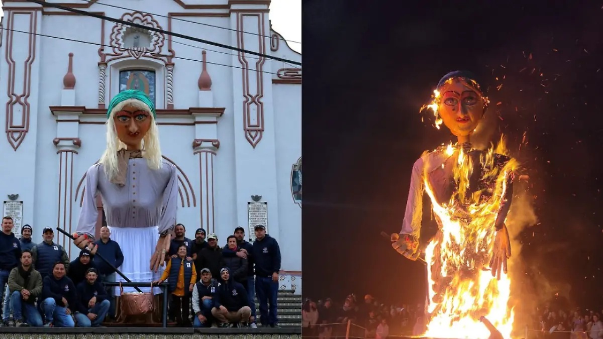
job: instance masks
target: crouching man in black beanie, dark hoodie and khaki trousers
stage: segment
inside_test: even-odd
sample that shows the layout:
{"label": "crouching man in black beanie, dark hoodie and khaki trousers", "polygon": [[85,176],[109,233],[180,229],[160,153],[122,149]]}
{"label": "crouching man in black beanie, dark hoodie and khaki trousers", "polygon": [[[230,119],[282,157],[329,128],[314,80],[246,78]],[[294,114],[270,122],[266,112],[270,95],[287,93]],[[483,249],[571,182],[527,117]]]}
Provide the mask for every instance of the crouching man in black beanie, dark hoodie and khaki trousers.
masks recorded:
{"label": "crouching man in black beanie, dark hoodie and khaki trousers", "polygon": [[243,285],[233,280],[228,267],[220,270],[220,285],[213,299],[212,315],[218,321],[218,327],[248,326],[251,308],[248,305],[247,291]]}

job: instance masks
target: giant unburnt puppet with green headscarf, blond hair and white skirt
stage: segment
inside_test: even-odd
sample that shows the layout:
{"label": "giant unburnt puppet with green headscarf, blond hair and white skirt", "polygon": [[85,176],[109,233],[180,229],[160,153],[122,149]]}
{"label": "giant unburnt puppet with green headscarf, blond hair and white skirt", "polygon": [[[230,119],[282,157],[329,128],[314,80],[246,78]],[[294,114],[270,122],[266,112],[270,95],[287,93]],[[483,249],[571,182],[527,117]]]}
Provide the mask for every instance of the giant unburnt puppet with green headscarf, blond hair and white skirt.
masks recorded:
{"label": "giant unburnt puppet with green headscarf, blond hair and white skirt", "polygon": [[[74,244],[92,247],[96,218],[96,194],[103,209],[111,239],[124,254],[119,270],[140,287],[151,291],[159,280],[176,220],[178,181],[176,168],[162,159],[159,129],[153,101],[139,90],[115,95],[107,108],[107,150],[86,174],[85,193]],[[117,277],[117,281],[124,281]],[[116,296],[120,290],[116,288]],[[134,288],[124,287],[124,293]],[[160,289],[153,288],[154,294]]]}

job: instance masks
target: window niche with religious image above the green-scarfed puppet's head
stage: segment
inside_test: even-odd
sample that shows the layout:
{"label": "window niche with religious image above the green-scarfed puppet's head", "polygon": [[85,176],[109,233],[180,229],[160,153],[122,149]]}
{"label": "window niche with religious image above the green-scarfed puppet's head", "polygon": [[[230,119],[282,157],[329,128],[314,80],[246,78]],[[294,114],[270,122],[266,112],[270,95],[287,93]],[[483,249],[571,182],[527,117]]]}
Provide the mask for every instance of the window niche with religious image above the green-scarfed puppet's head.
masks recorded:
{"label": "window niche with religious image above the green-scarfed puppet's head", "polygon": [[159,60],[128,59],[108,65],[111,84],[109,102],[114,95],[126,89],[146,92],[156,109],[165,109],[165,66]]}

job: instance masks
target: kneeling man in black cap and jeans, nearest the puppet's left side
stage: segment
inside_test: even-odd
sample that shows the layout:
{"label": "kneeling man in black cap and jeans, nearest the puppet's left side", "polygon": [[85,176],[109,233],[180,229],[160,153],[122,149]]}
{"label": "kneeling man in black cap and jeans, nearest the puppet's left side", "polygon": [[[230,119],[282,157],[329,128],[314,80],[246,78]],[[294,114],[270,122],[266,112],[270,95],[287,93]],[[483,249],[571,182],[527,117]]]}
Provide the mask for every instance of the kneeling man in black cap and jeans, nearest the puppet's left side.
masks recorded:
{"label": "kneeling man in black cap and jeans, nearest the puppet's left side", "polygon": [[105,320],[111,303],[109,294],[98,281],[98,270],[86,271],[86,280],[77,285],[75,320],[78,327],[99,327]]}

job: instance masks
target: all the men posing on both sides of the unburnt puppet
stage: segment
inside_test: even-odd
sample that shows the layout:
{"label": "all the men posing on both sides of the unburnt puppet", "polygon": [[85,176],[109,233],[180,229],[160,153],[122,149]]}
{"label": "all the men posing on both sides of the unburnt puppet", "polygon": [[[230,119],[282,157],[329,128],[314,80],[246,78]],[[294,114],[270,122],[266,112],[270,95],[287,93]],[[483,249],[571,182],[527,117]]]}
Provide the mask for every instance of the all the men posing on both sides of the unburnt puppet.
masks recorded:
{"label": "all the men posing on both sides of the unburnt puppet", "polygon": [[[106,317],[115,317],[113,289],[103,287],[102,282],[115,282],[115,267],[121,266],[124,256],[119,244],[110,239],[107,227],[101,229],[95,242],[96,253],[113,265],[91,256],[87,250],[69,262],[65,249],[53,241],[50,227],[43,229],[43,241],[35,245],[31,242],[31,226],[22,227],[21,239],[12,230],[12,218],[4,217],[0,232],[0,288],[5,284],[7,288],[0,326],[89,327],[101,326]],[[276,239],[266,233],[265,226],[254,227],[253,243],[245,241],[242,227],[236,227],[224,248],[218,246],[215,234],[206,240],[202,228],[195,231],[194,240],[186,238],[185,232],[184,225],[175,227],[166,256],[166,261],[177,258],[178,249],[184,245],[183,262],[194,262],[189,266],[195,267],[196,282],[192,280],[190,287],[183,289],[186,302],[180,302],[186,305],[181,306],[185,309],[184,318],[188,320],[190,300],[194,327],[257,328],[257,294],[261,324],[277,327],[280,248]],[[179,271],[166,272],[167,279],[186,276],[186,267],[180,265]],[[173,303],[169,311],[173,318]]]}

